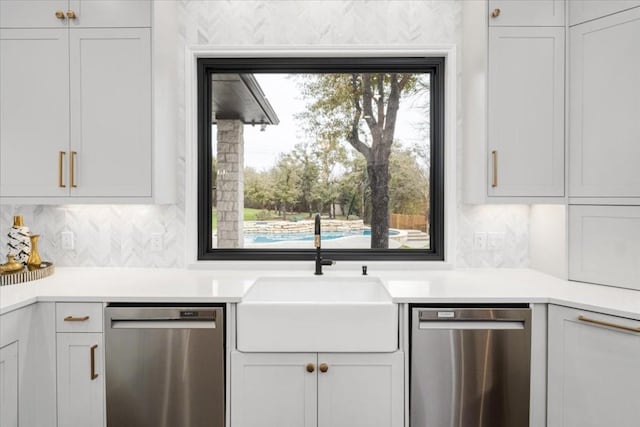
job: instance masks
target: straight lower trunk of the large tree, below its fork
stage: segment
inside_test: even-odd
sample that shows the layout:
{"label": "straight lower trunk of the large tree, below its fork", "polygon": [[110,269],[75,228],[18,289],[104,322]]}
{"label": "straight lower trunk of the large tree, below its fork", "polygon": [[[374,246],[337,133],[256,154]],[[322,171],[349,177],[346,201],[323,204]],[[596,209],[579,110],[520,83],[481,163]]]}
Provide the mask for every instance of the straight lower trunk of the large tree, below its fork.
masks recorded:
{"label": "straight lower trunk of the large tree, below its fork", "polygon": [[368,164],[371,188],[371,249],[389,248],[389,164]]}

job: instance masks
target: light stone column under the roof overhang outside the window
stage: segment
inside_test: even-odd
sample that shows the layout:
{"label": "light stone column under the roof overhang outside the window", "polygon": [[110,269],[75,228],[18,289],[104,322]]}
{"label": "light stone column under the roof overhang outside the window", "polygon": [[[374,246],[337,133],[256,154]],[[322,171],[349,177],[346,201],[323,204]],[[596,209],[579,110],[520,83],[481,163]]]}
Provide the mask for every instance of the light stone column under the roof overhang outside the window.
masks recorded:
{"label": "light stone column under the roof overhang outside the window", "polygon": [[240,120],[218,120],[218,248],[244,244],[244,138]]}

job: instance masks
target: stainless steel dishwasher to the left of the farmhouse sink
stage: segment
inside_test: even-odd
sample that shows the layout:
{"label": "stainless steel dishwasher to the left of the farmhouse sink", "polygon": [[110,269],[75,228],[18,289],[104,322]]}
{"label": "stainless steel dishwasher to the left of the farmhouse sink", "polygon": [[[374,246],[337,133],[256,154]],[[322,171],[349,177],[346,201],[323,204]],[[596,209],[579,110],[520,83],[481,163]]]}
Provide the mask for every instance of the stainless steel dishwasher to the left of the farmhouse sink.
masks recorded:
{"label": "stainless steel dishwasher to the left of the farmhouse sink", "polygon": [[109,427],[223,427],[222,307],[105,309]]}

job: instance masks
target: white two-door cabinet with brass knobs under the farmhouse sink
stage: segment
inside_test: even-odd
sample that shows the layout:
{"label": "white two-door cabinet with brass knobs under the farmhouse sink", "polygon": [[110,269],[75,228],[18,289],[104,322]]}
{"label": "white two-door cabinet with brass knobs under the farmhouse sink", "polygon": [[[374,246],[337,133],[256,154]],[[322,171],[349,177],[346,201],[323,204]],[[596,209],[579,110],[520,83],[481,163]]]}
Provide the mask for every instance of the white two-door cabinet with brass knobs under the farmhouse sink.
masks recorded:
{"label": "white two-door cabinet with brass knobs under the farmhouse sink", "polygon": [[232,427],[401,427],[403,355],[231,354]]}

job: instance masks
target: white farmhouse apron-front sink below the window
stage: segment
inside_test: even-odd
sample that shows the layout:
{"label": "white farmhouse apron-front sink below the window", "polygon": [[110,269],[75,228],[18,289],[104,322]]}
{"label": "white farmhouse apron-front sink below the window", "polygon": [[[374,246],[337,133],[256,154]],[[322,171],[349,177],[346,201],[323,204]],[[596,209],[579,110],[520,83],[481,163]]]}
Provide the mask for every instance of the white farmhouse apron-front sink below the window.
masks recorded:
{"label": "white farmhouse apron-front sink below the window", "polygon": [[390,352],[398,306],[374,277],[265,277],[237,307],[240,351]]}

